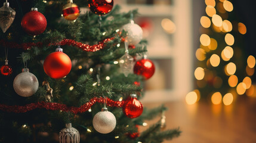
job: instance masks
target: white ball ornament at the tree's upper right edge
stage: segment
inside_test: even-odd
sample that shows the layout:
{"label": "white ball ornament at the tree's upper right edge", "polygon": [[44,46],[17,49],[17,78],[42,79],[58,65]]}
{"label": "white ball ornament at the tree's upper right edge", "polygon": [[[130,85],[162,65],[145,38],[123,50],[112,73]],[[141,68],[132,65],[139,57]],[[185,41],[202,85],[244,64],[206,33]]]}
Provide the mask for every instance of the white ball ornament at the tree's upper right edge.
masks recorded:
{"label": "white ball ornament at the tree's upper right edge", "polygon": [[129,45],[136,45],[143,38],[143,31],[138,24],[128,23],[122,27],[127,32],[127,41]]}

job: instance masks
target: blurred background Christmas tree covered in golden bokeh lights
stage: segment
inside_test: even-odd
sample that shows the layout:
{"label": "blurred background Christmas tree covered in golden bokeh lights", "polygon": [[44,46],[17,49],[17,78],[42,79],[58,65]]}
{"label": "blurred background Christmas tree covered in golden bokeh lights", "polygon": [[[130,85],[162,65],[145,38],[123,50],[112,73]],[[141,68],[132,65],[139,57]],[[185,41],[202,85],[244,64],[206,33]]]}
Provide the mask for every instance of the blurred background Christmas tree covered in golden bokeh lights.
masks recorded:
{"label": "blurred background Christmas tree covered in golden bokeh lights", "polygon": [[[255,58],[244,51],[245,24],[233,13],[227,0],[205,0],[201,17],[200,48],[196,49],[195,91],[187,94],[188,104],[200,98],[212,104],[230,105],[239,96],[254,93],[251,77]],[[249,55],[249,56],[248,56]]]}

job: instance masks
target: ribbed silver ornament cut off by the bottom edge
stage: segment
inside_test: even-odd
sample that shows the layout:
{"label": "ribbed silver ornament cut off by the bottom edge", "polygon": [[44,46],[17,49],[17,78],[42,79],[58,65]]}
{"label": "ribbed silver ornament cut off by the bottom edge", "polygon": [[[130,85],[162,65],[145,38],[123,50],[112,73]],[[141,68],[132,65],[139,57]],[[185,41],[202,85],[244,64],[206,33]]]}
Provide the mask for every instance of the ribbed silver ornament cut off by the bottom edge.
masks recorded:
{"label": "ribbed silver ornament cut off by the bottom edge", "polygon": [[60,130],[58,139],[60,143],[79,143],[80,134],[77,129],[72,127],[71,123],[67,123],[66,128]]}

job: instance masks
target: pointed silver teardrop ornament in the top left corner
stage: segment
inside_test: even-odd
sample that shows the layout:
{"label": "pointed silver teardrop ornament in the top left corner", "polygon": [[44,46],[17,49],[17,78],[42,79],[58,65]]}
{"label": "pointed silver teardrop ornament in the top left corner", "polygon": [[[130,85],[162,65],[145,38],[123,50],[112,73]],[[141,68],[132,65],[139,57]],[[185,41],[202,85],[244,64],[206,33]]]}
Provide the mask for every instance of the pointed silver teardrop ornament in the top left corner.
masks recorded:
{"label": "pointed silver teardrop ornament in the top left corner", "polygon": [[13,8],[9,7],[9,2],[4,2],[4,6],[0,8],[0,27],[2,32],[5,33],[11,26],[15,18],[15,14],[16,12],[13,10]]}

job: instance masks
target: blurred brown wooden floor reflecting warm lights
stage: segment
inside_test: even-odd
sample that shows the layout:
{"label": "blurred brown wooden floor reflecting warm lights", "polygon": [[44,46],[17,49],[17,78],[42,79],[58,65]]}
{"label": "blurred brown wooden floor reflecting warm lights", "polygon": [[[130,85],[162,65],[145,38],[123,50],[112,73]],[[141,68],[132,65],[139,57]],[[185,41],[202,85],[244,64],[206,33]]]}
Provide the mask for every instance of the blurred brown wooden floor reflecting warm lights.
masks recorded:
{"label": "blurred brown wooden floor reflecting warm lights", "polygon": [[[162,103],[143,103],[153,108]],[[232,105],[184,101],[164,103],[166,129],[180,127],[181,136],[164,143],[250,143],[256,142],[256,98],[237,99]],[[156,122],[158,119],[147,123]],[[141,130],[145,128],[142,127]]]}

